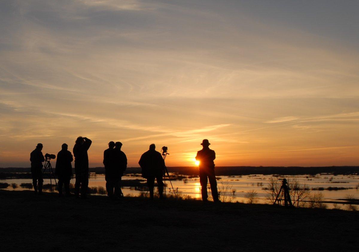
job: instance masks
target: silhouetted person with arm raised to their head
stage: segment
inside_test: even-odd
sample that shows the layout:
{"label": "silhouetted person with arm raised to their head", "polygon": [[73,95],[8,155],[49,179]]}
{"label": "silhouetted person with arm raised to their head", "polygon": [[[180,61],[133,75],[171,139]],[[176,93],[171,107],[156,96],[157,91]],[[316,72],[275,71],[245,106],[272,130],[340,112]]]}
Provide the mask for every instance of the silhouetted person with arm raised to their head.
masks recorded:
{"label": "silhouetted person with arm raised to their head", "polygon": [[81,186],[81,198],[86,198],[89,184],[89,157],[87,154],[92,141],[87,137],[78,137],[75,142],[73,153],[75,156],[75,196],[79,197]]}

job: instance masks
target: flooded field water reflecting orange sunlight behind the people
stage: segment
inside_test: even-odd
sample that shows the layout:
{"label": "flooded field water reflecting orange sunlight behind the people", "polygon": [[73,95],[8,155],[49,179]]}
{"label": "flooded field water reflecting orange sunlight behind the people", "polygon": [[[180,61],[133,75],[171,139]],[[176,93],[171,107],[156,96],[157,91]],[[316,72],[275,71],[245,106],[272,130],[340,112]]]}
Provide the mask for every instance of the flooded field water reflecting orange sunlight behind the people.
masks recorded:
{"label": "flooded field water reflecting orange sunlight behind the people", "polygon": [[[178,174],[171,174],[176,177]],[[286,178],[289,181],[297,179],[301,185],[306,185],[311,194],[322,193],[324,201],[338,201],[348,197],[359,198],[359,176],[358,175],[332,175],[332,174],[317,174],[317,175],[295,175],[295,176],[274,176],[274,175],[243,175],[243,176],[219,176],[217,179],[218,190],[228,197],[233,202],[247,202],[248,192],[255,192],[255,200],[257,203],[269,203],[266,199],[267,193],[265,188],[269,187],[270,179]],[[143,179],[140,174],[131,174],[124,176],[123,180]],[[278,180],[281,183],[280,180]],[[18,187],[13,188],[11,185],[6,190],[24,190],[28,188],[20,187],[22,183],[32,183],[31,179],[4,179],[0,183],[15,183]],[[44,184],[50,183],[50,179],[44,179]],[[53,183],[53,181],[52,181]],[[75,179],[71,179],[70,183],[75,183]],[[105,188],[105,178],[102,174],[92,174],[89,179],[89,187],[103,187]],[[171,184],[166,180],[166,193],[173,193]],[[181,180],[172,180],[174,190],[182,195],[188,195],[192,198],[201,198],[201,185],[199,177],[183,176]],[[137,188],[138,189],[138,188]],[[133,196],[139,195],[144,191],[136,190],[132,187],[123,187],[125,195],[131,194]],[[328,204],[332,208],[332,204]]]}

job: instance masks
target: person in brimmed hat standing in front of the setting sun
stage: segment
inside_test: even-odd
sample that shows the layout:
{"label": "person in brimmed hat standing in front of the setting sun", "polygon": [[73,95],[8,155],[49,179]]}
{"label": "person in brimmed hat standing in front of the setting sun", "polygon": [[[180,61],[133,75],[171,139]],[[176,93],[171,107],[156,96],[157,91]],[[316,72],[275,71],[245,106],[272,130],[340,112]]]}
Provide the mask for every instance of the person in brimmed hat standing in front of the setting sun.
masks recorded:
{"label": "person in brimmed hat standing in front of the setting sun", "polygon": [[214,174],[214,160],[216,159],[216,154],[214,150],[211,150],[209,148],[210,143],[207,139],[204,139],[201,145],[203,146],[203,148],[202,150],[197,152],[196,160],[200,161],[199,170],[200,183],[202,187],[202,200],[208,201],[207,183],[209,180],[213,201],[220,202],[218,199],[217,180]]}

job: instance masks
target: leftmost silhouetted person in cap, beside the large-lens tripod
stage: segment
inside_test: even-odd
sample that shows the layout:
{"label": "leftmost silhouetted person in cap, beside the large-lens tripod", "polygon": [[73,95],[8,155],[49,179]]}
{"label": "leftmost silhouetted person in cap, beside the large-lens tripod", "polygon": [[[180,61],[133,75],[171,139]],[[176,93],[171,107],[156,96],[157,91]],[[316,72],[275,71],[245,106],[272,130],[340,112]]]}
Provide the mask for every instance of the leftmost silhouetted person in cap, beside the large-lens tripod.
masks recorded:
{"label": "leftmost silhouetted person in cap, beside the large-lens tripod", "polygon": [[42,184],[44,182],[42,179],[42,162],[45,162],[45,157],[41,152],[42,147],[42,143],[38,143],[35,150],[30,153],[31,176],[35,194],[37,194],[37,189],[39,189],[39,194],[42,194]]}

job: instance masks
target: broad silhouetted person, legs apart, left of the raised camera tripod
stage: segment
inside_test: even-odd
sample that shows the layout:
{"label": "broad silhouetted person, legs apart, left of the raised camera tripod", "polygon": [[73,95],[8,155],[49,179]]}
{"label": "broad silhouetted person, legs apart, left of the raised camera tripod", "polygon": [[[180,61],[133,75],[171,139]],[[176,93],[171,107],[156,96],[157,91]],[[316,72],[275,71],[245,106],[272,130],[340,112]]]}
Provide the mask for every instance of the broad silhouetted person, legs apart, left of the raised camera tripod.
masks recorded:
{"label": "broad silhouetted person, legs apart, left of the raised camera tripod", "polygon": [[164,171],[164,161],[162,155],[155,151],[156,146],[150,145],[150,149],[142,154],[140,161],[138,162],[142,168],[142,177],[147,179],[148,189],[150,191],[150,198],[153,200],[153,188],[155,178],[158,184],[159,198],[163,198],[163,182],[162,176]]}

